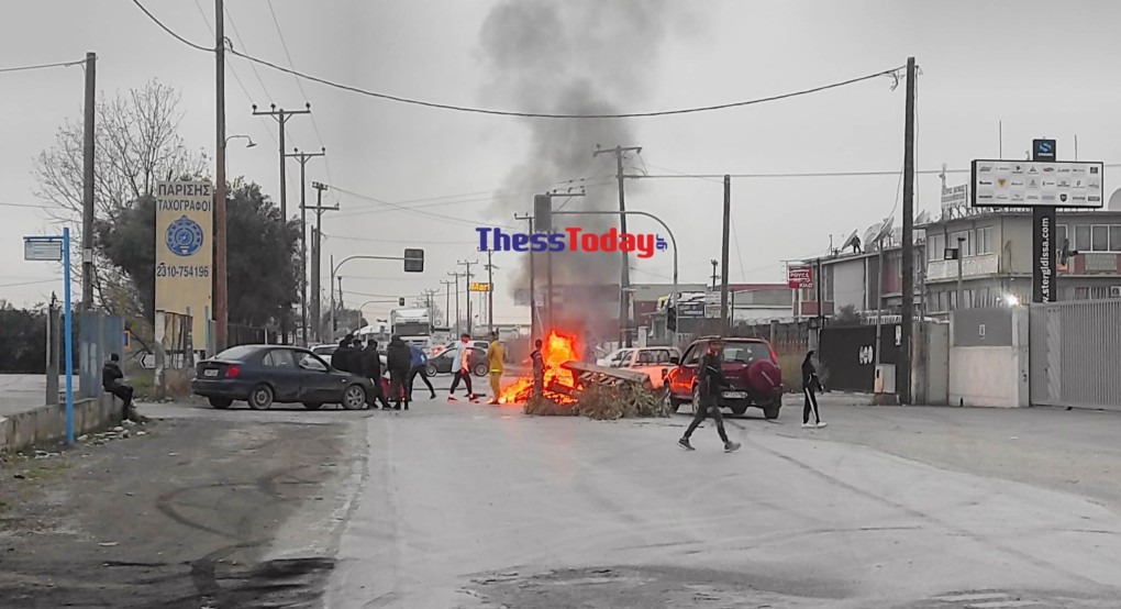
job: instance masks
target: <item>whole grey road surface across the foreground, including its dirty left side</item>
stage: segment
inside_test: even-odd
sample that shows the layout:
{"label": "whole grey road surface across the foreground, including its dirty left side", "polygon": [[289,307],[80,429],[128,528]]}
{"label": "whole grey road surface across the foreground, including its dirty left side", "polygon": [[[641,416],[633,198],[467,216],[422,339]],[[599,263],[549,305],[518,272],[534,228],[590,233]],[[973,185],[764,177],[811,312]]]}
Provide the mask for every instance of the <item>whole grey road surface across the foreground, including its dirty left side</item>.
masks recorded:
{"label": "whole grey road surface across the foreground, including its dirty left side", "polygon": [[[447,386],[437,378],[437,388]],[[427,391],[418,393],[418,397]],[[0,469],[0,606],[1115,608],[1114,413],[142,405]],[[19,478],[16,478],[19,474]],[[6,605],[7,603],[7,605]]]}

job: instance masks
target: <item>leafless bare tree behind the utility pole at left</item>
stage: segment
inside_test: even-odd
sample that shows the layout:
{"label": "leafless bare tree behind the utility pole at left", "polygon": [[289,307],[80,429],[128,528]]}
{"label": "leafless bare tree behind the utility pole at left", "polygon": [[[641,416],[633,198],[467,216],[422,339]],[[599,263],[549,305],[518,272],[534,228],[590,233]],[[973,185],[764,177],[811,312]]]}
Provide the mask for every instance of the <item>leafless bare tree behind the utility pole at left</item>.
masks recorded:
{"label": "leafless bare tree behind the utility pole at left", "polygon": [[[179,100],[178,91],[155,79],[111,100],[101,95],[94,114],[95,219],[114,221],[138,199],[151,194],[159,179],[207,174],[206,154],[189,150],[179,136]],[[57,220],[77,227],[83,209],[83,140],[82,121],[67,119],[55,133],[55,145],[39,153],[33,172],[39,183],[36,195],[58,206]],[[80,249],[75,256],[81,264]],[[111,313],[131,313],[138,302],[135,286],[96,242],[94,257],[96,301]]]}

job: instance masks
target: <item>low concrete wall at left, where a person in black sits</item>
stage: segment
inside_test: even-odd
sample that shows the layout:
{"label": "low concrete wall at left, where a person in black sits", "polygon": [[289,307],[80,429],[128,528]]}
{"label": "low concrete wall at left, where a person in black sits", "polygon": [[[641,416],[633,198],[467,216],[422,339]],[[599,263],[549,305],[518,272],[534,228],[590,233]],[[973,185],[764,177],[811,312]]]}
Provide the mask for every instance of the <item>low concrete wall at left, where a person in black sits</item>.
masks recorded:
{"label": "low concrete wall at left, where a person in black sits", "polygon": [[[121,421],[123,408],[111,395],[74,400],[74,436],[108,427]],[[12,453],[44,442],[66,439],[66,405],[40,406],[24,413],[0,416],[0,454]]]}

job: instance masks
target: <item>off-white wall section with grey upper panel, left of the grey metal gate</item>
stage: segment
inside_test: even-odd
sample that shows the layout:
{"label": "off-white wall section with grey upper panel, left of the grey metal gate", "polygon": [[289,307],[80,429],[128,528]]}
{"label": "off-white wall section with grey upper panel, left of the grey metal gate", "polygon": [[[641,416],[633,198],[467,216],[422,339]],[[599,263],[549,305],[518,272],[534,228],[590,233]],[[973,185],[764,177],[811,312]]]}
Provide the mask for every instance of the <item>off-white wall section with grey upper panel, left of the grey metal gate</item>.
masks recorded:
{"label": "off-white wall section with grey upper panel, left of the grey metal gate", "polygon": [[1004,311],[1010,344],[976,344],[981,339],[975,331],[979,320],[985,314],[997,317],[1000,310],[966,310],[951,316],[952,406],[1028,406],[1028,312],[1025,308]]}

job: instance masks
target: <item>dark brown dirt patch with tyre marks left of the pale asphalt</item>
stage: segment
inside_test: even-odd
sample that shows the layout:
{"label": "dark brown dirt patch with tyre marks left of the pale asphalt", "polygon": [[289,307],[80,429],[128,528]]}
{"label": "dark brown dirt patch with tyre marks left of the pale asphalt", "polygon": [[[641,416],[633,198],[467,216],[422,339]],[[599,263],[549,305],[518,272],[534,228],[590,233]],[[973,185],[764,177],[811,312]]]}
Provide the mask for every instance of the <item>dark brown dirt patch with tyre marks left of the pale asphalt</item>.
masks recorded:
{"label": "dark brown dirt patch with tyre marks left of the pale asphalt", "polygon": [[351,427],[147,427],[0,468],[3,606],[317,607],[326,553],[263,557],[290,520],[331,517]]}

